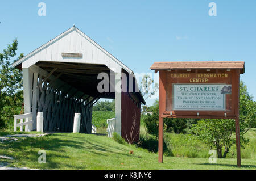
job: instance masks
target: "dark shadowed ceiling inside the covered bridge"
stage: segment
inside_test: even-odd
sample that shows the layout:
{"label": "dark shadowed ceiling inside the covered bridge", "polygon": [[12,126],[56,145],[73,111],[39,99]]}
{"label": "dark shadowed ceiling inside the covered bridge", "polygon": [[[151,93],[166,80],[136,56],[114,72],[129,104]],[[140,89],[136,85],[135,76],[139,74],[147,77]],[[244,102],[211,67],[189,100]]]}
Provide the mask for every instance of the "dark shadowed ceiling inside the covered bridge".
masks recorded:
{"label": "dark shadowed ceiling inside the covered bridge", "polygon": [[[115,85],[110,84],[109,92],[98,92],[97,86],[102,79],[97,79],[99,73],[107,73],[110,79],[110,69],[102,64],[79,64],[64,62],[39,61],[37,66],[46,70],[50,75],[68,83],[71,87],[76,88],[84,94],[97,98],[115,98],[115,92],[110,92],[110,86],[114,90]],[[115,73],[112,71],[113,75]],[[73,94],[76,94],[73,93]],[[72,95],[71,95],[72,96]]]}

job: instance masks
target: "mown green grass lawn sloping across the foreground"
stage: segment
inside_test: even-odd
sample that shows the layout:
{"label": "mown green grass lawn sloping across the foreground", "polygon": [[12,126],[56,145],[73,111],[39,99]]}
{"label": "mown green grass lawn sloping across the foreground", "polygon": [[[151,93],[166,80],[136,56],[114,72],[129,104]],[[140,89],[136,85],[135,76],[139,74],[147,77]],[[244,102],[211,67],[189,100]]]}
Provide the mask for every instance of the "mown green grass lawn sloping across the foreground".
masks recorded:
{"label": "mown green grass lawn sloping across the foreground", "polygon": [[[210,164],[207,158],[164,157],[164,163],[158,163],[158,154],[93,134],[56,133],[19,141],[0,142],[0,155],[14,158],[0,158],[0,162],[31,169],[238,169],[234,158]],[[46,150],[46,164],[38,163],[38,151],[42,149]],[[242,159],[241,169],[256,169],[256,160]]]}

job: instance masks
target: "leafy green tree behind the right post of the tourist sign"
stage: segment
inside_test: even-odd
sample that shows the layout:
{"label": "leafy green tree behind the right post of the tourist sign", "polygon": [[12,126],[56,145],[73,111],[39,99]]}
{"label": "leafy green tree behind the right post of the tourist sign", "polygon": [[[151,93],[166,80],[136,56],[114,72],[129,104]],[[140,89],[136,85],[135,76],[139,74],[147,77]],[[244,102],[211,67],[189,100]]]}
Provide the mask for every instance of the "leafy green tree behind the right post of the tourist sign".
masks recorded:
{"label": "leafy green tree behind the right post of the tourist sign", "polygon": [[[244,82],[240,81],[240,141],[241,147],[249,140],[244,134],[252,127],[255,127],[256,104],[253,96],[250,96]],[[201,119],[197,124],[192,125],[192,133],[200,140],[203,140],[211,149],[216,149],[218,158],[226,158],[230,147],[236,143],[233,135],[236,132],[234,120],[224,119]],[[224,154],[222,155],[222,148]]]}

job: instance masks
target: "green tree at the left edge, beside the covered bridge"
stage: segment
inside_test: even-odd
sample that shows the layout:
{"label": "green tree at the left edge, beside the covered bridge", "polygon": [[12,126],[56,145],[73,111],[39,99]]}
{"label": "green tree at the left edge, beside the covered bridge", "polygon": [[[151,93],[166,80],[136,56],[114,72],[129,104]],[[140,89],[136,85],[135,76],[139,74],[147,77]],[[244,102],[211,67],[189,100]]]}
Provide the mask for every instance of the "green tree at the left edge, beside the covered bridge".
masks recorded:
{"label": "green tree at the left edge, beside the covered bridge", "polygon": [[23,57],[23,54],[20,54],[18,59],[13,60],[17,50],[18,41],[15,39],[11,45],[7,45],[7,49],[4,49],[3,53],[0,53],[0,128],[6,124],[4,120],[9,108],[5,106],[14,103],[17,98],[15,94],[22,87],[22,72],[11,66],[14,61]]}

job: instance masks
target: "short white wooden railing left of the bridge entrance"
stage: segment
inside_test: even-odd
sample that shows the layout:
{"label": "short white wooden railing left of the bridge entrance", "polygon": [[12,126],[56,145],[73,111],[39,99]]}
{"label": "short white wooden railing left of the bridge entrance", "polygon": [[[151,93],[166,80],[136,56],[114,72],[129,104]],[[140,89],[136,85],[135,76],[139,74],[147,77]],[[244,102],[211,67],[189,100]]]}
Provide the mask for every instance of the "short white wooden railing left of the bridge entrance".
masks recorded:
{"label": "short white wooden railing left of the bridge entrance", "polygon": [[[23,122],[23,119],[25,122]],[[17,120],[20,123],[17,124]],[[17,131],[17,127],[20,127],[20,131],[23,131],[23,126],[25,126],[25,131],[31,131],[32,129],[32,113],[25,113],[24,115],[14,115],[14,131]]]}

